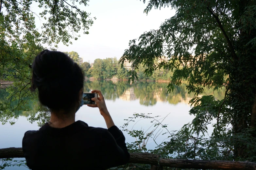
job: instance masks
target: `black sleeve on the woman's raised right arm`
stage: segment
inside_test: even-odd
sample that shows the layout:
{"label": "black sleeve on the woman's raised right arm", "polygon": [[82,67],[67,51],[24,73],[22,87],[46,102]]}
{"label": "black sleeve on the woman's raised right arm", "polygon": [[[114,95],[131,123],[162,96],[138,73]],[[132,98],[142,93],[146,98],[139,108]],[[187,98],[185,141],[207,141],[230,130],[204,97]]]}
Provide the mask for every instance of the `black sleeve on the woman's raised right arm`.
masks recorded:
{"label": "black sleeve on the woman's raised right arm", "polygon": [[128,163],[130,154],[123,133],[116,126],[112,126],[102,134],[102,137],[103,168],[107,169]]}

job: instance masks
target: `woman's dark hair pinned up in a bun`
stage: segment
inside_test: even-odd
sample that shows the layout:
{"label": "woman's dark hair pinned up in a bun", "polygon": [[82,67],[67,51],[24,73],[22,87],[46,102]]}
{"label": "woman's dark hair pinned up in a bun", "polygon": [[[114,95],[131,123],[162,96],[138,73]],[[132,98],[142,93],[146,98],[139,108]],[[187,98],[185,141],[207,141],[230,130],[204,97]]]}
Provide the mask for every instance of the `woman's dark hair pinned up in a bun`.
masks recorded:
{"label": "woman's dark hair pinned up in a bun", "polygon": [[34,59],[32,69],[31,90],[38,88],[42,105],[54,111],[75,106],[84,83],[77,63],[63,52],[43,50]]}

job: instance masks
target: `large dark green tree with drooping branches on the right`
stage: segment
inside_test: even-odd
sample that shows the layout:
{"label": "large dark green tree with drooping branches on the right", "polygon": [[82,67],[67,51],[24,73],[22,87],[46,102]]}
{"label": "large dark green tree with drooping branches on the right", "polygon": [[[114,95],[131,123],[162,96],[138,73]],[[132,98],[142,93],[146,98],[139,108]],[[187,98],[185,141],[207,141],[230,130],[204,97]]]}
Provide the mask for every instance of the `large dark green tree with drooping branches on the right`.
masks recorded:
{"label": "large dark green tree with drooping branches on the right", "polygon": [[[137,78],[136,69],[143,64],[146,75],[160,68],[174,70],[168,92],[183,79],[189,82],[188,92],[196,95],[205,86],[225,88],[221,101],[215,102],[211,96],[191,101],[196,107],[190,111],[196,116],[194,131],[207,130],[207,122],[216,119],[212,139],[249,130],[252,140],[256,134],[256,1],[149,0],[144,12],[161,7],[176,9],[176,14],[159,29],[131,40],[120,60],[122,64],[125,59],[133,61],[130,80]],[[162,56],[168,61],[154,64]],[[214,107],[210,110],[207,105]],[[225,143],[231,148],[229,152],[234,159],[255,161],[256,150],[238,137]]]}

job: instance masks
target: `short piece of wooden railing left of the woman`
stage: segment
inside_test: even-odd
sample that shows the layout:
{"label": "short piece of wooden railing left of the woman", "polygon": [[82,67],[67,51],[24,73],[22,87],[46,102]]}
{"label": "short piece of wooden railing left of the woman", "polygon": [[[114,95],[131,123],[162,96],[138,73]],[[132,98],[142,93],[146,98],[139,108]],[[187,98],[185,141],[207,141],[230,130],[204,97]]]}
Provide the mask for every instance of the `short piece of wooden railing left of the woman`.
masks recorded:
{"label": "short piece of wooden railing left of the woman", "polygon": [[0,149],[0,159],[2,158],[24,158],[22,148]]}

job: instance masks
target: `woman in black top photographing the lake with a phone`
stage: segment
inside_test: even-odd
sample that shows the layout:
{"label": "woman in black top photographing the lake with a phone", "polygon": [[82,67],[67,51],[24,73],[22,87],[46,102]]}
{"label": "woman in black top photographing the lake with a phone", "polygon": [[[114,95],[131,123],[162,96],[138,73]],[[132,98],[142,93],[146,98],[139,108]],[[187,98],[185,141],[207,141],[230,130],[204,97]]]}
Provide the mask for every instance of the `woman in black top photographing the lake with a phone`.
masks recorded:
{"label": "woman in black top photographing the lake with a phone", "polygon": [[[43,50],[34,60],[31,90],[51,111],[50,121],[38,131],[27,131],[22,148],[27,166],[38,169],[107,169],[128,163],[123,133],[114,125],[104,97],[93,98],[107,128],[75,121],[82,100],[84,76],[66,54]],[[89,113],[87,113],[89,114]]]}

